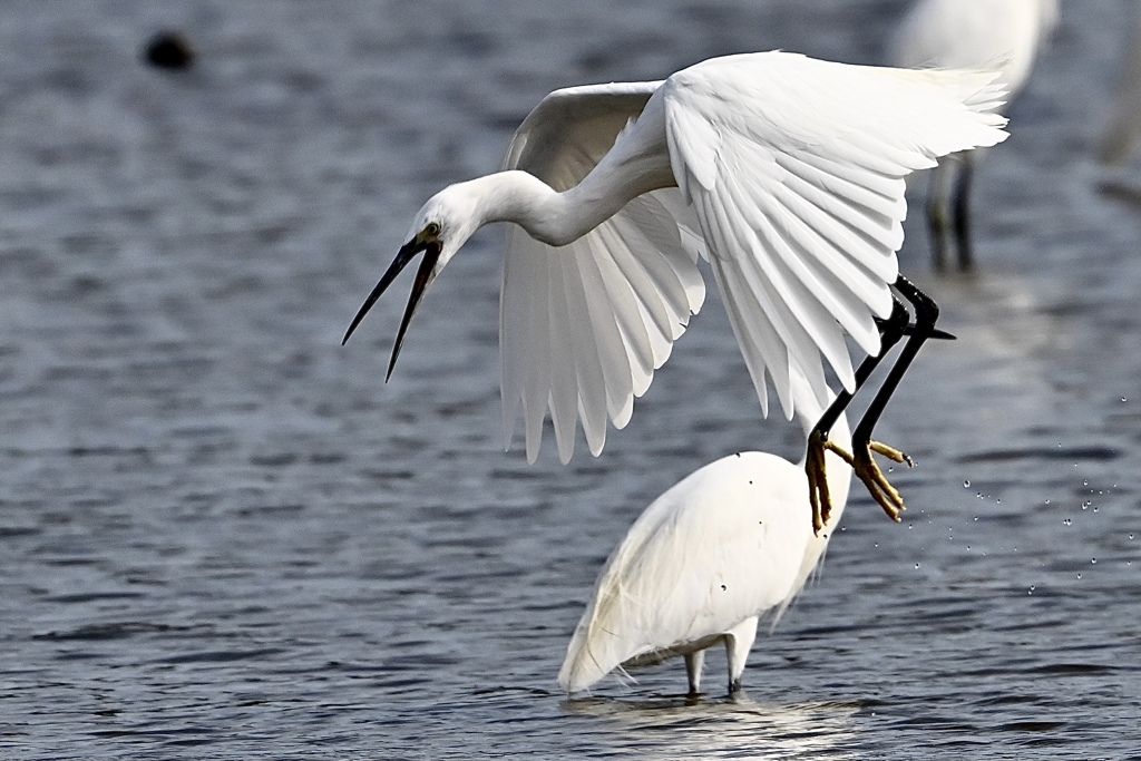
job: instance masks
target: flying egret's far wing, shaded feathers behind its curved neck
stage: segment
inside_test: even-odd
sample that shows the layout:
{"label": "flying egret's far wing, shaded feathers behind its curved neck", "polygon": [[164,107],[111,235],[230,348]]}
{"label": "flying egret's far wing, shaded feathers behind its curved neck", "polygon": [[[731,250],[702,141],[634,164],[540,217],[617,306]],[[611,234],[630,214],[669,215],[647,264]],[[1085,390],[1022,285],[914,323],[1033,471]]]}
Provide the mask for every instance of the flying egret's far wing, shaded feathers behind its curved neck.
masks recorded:
{"label": "flying egret's far wing, shaded feathers behind its curved neck", "polygon": [[[556,191],[574,187],[659,84],[550,94],[519,127],[503,169],[527,171]],[[669,188],[634,199],[565,246],[509,229],[500,300],[507,445],[520,407],[529,461],[539,455],[548,410],[564,462],[580,420],[596,455],[607,420],[626,424],[633,398],[649,387],[705,297],[696,267],[701,241],[675,218],[687,213]]]}

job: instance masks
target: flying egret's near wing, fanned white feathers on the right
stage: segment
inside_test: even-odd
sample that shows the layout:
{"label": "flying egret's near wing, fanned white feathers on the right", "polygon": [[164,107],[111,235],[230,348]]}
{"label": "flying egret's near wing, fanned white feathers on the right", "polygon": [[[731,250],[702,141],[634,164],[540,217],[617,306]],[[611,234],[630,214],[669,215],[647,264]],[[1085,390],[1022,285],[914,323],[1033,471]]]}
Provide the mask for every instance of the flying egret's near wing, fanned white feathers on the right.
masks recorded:
{"label": "flying egret's near wing, fanned white feathers on the right", "polygon": [[904,177],[1005,139],[995,74],[901,71],[785,52],[712,59],[664,87],[666,137],[737,341],[768,414],[800,367],[827,397],[822,356],[855,384],[844,342],[880,350],[907,211]]}

